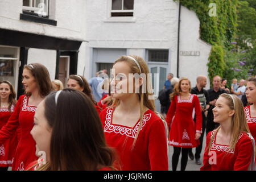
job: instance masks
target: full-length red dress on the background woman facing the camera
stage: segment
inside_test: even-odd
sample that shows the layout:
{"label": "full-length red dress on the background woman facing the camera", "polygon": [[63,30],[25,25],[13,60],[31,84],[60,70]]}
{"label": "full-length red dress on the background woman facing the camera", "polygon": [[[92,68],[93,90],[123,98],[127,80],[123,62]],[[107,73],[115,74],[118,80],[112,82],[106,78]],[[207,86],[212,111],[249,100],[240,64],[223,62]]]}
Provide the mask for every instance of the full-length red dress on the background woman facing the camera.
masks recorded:
{"label": "full-length red dress on the background woman facing the camera", "polygon": [[[195,108],[196,123],[193,121]],[[169,145],[182,148],[193,148],[200,144],[195,140],[196,133],[202,133],[202,114],[199,98],[191,94],[189,100],[175,96],[168,110],[166,121],[170,129]]]}

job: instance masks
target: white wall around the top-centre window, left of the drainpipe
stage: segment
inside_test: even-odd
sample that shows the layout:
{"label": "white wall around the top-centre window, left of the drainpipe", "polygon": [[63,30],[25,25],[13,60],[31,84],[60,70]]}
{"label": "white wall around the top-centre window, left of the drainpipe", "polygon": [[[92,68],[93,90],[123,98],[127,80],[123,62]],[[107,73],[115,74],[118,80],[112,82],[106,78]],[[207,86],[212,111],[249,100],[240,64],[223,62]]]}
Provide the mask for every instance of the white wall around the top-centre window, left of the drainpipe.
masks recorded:
{"label": "white wall around the top-centre window, left of the drainpipe", "polygon": [[[110,0],[87,1],[89,47],[126,48],[128,54],[144,58],[144,49],[171,49],[170,66],[175,66],[178,3],[172,0],[134,1],[134,16],[128,18],[110,18],[110,5]],[[167,72],[176,74],[176,69],[171,67]]]}

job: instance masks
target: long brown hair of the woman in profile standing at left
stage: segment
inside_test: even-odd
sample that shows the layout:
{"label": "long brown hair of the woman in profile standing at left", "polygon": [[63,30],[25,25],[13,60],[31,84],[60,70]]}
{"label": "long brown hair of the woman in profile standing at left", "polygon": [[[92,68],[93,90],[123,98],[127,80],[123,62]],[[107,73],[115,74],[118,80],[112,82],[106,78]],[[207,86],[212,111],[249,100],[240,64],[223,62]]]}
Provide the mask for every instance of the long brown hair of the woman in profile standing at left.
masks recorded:
{"label": "long brown hair of the woman in profile standing at left", "polygon": [[[48,69],[43,64],[28,64],[24,66],[24,69],[28,69],[32,76],[35,77],[40,96],[46,97],[52,90],[54,90]],[[31,93],[26,93],[26,95],[31,96]]]}

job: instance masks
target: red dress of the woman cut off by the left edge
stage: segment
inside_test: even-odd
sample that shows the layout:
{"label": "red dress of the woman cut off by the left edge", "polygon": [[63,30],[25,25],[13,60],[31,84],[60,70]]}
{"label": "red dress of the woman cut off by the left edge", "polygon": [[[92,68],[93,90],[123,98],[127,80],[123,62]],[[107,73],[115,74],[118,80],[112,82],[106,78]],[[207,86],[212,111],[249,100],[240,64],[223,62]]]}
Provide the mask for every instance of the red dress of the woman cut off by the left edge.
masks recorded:
{"label": "red dress of the woman cut off by the left edge", "polygon": [[[0,129],[5,126],[13,111],[14,105],[11,106],[10,110],[8,108],[0,108]],[[0,167],[12,166],[17,144],[17,134],[14,133],[10,139],[0,145]]]}

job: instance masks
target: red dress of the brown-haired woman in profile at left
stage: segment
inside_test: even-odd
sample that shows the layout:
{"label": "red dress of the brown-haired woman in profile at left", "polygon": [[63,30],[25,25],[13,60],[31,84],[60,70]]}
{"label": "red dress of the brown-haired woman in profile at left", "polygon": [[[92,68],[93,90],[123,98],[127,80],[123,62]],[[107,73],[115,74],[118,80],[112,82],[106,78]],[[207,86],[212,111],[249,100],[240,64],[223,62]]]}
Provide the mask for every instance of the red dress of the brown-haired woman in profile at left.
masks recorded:
{"label": "red dress of the brown-haired woman in profile at left", "polygon": [[14,155],[13,170],[24,171],[26,166],[38,159],[35,155],[36,143],[30,131],[34,126],[36,107],[28,106],[29,97],[22,95],[15,106],[9,121],[0,130],[0,143],[6,141],[20,126],[20,138]]}

